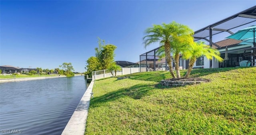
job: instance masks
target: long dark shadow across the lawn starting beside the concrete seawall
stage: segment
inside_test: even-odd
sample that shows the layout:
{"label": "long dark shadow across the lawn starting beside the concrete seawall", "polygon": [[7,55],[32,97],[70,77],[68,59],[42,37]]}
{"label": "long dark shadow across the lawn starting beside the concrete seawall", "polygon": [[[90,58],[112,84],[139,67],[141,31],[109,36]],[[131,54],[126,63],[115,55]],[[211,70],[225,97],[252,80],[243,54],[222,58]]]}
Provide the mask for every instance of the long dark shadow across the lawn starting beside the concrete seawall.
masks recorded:
{"label": "long dark shadow across the lawn starting beside the concrete seawall", "polygon": [[154,85],[137,84],[130,88],[122,88],[113,92],[109,92],[99,97],[94,97],[91,99],[90,107],[101,106],[102,103],[112,102],[118,100],[119,98],[124,98],[126,96],[138,100],[143,96],[150,95],[150,90],[153,90]]}

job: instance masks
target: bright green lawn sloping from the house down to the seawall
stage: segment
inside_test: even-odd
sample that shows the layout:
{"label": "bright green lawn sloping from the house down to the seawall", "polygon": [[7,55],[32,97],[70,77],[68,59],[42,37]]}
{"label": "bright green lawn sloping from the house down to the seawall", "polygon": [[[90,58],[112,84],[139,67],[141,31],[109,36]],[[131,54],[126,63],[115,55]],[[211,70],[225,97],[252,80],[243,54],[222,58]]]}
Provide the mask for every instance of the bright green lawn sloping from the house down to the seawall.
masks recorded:
{"label": "bright green lawn sloping from the house down to the seawall", "polygon": [[94,82],[85,134],[256,134],[256,67],[196,69],[212,81],[175,88],[166,71],[126,76]]}

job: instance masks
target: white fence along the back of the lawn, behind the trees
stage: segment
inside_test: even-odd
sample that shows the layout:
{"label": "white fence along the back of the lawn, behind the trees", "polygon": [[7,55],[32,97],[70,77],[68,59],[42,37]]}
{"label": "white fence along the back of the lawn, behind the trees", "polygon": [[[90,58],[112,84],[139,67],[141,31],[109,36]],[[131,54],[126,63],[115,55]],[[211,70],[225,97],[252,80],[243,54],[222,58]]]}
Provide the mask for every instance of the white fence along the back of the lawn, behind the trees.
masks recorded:
{"label": "white fence along the back of the lawn, behind the trees", "polygon": [[[145,71],[146,71],[146,68],[145,68]],[[132,74],[135,72],[140,72],[140,68],[132,68],[132,67],[131,68],[121,68],[121,70],[118,70],[116,72],[116,75]],[[114,74],[114,72],[113,72],[113,74]],[[111,71],[108,69],[92,72],[92,80],[97,80],[100,78],[106,78],[106,77],[111,77],[111,76],[112,76]]]}

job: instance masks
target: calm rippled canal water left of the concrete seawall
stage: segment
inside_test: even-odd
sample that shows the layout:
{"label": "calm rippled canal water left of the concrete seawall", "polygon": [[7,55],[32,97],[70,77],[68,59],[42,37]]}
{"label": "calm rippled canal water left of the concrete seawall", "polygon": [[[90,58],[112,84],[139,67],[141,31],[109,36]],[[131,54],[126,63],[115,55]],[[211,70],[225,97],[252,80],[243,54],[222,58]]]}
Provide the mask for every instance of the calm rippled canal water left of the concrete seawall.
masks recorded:
{"label": "calm rippled canal water left of the concrete seawall", "polygon": [[0,83],[0,134],[60,135],[85,91],[84,76]]}

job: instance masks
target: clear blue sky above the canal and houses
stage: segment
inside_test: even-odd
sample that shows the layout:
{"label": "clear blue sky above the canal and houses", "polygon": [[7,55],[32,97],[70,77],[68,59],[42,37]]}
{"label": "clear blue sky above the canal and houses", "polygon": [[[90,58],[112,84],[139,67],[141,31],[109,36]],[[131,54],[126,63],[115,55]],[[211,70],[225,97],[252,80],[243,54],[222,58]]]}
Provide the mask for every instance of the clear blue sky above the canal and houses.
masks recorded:
{"label": "clear blue sky above the canal and houses", "polygon": [[143,46],[144,30],[153,24],[176,21],[196,31],[255,5],[256,0],[1,0],[0,65],[53,69],[66,62],[85,72],[97,37],[117,46],[115,61],[137,62],[159,46]]}

